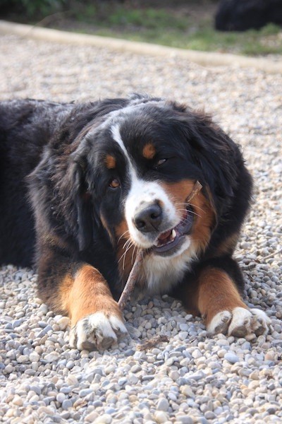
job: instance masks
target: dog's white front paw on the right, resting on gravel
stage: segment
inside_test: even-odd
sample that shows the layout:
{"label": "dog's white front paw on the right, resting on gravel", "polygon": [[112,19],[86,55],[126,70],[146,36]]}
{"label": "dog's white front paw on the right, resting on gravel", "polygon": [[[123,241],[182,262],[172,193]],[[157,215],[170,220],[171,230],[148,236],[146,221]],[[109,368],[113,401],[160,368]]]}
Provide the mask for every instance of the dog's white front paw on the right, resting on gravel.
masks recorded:
{"label": "dog's white front paw on the right, resting on gravel", "polygon": [[267,334],[271,320],[266,313],[258,309],[235,307],[232,312],[221,311],[207,325],[211,334],[245,337],[248,334],[261,336]]}

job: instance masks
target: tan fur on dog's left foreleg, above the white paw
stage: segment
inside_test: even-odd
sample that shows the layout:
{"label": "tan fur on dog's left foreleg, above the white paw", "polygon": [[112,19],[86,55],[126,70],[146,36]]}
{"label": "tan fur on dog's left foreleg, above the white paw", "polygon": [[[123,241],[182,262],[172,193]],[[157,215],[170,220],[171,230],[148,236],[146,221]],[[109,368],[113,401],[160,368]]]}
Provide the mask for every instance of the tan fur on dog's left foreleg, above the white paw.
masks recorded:
{"label": "tan fur on dog's left foreleg, above the white paw", "polygon": [[59,297],[64,310],[71,317],[72,326],[79,319],[95,312],[121,317],[121,311],[112,298],[108,283],[91,265],[82,265],[74,278],[66,276],[61,282]]}

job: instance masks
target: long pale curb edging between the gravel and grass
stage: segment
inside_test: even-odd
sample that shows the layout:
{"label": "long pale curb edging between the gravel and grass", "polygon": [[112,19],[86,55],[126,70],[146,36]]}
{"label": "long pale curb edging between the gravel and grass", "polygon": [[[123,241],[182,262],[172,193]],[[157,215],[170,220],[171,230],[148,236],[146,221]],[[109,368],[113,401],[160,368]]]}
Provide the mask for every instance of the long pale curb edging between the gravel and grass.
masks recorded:
{"label": "long pale curb edging between the gravel and grass", "polygon": [[282,60],[279,62],[269,59],[255,59],[239,56],[237,54],[222,54],[216,52],[197,52],[194,50],[176,49],[147,42],[132,42],[98,35],[85,35],[68,33],[66,31],[50,30],[32,25],[11,23],[0,20],[0,34],[20,35],[20,37],[61,42],[75,45],[92,45],[119,52],[131,52],[160,57],[180,57],[195,62],[202,66],[239,66],[242,68],[255,68],[268,73],[282,73]]}

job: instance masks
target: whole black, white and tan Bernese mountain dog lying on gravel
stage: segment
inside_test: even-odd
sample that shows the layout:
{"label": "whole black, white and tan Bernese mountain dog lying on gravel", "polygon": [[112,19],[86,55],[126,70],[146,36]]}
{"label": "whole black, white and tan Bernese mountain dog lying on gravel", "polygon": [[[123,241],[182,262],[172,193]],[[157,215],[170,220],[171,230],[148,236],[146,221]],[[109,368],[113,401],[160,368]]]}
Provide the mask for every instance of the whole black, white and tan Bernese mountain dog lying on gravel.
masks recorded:
{"label": "whole black, white and tan Bernese mountain dog lying on gravel", "polygon": [[251,194],[240,148],[177,102],[0,102],[0,263],[36,266],[80,350],[125,334],[116,300],[137,249],[137,294],[180,299],[210,334],[265,334],[232,257]]}

